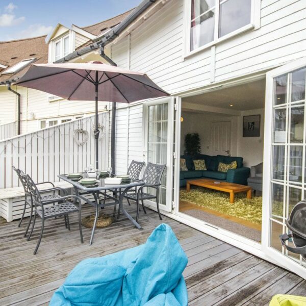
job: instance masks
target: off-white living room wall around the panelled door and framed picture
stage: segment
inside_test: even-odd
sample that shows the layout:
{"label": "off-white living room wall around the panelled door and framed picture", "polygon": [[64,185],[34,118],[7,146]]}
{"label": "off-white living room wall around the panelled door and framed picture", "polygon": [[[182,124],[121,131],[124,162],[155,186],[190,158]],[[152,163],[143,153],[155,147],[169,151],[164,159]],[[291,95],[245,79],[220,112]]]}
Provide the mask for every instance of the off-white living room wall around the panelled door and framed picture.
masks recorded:
{"label": "off-white living room wall around the panelled door and framed picture", "polygon": [[[260,137],[243,137],[243,116],[261,115]],[[211,155],[212,122],[231,121],[231,155],[243,157],[244,166],[250,167],[263,161],[264,109],[242,111],[237,116],[214,113],[190,113],[182,111],[181,154],[184,154],[184,139],[187,133],[199,133],[202,154]],[[225,152],[224,152],[224,155]]]}

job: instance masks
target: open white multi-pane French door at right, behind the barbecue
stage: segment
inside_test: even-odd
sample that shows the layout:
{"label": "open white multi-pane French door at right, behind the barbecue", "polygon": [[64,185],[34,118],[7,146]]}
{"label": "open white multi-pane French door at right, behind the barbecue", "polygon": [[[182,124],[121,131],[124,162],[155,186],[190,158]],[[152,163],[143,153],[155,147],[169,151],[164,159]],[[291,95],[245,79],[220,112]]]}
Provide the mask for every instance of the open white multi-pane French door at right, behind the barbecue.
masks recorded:
{"label": "open white multi-pane French door at right, behind the barbecue", "polygon": [[267,73],[262,227],[266,254],[304,278],[306,261],[279,236],[289,233],[286,219],[306,198],[305,84],[306,58]]}

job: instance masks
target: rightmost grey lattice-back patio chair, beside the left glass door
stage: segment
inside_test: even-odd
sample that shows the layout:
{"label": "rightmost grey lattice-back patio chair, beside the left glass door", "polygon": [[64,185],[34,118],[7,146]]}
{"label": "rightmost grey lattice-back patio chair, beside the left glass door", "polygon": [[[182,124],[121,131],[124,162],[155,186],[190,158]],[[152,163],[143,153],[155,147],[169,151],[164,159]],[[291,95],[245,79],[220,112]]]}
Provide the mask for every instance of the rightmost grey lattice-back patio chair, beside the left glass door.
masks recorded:
{"label": "rightmost grey lattice-back patio chair, beside the left glass door", "polygon": [[[136,201],[137,204],[137,215],[136,222],[138,222],[139,218],[139,202],[141,201],[142,209],[146,214],[146,210],[144,208],[144,200],[148,199],[156,199],[156,206],[160,220],[162,220],[162,216],[159,209],[159,189],[161,186],[161,180],[163,172],[166,168],[166,165],[158,165],[148,163],[142,177],[142,181],[145,183],[143,186],[139,187],[135,194],[126,194],[124,197],[129,200]],[[154,188],[156,189],[156,194],[143,192],[144,188]],[[118,211],[118,215],[120,213],[120,207]]]}

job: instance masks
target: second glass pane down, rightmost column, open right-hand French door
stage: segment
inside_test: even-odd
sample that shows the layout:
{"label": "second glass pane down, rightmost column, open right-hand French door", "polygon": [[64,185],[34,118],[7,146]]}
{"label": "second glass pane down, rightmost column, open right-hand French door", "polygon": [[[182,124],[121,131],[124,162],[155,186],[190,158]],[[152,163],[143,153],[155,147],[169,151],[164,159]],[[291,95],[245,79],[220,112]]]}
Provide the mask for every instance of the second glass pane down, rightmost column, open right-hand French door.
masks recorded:
{"label": "second glass pane down, rightmost column, open right-hand French door", "polygon": [[304,107],[291,108],[290,142],[302,143],[304,130]]}

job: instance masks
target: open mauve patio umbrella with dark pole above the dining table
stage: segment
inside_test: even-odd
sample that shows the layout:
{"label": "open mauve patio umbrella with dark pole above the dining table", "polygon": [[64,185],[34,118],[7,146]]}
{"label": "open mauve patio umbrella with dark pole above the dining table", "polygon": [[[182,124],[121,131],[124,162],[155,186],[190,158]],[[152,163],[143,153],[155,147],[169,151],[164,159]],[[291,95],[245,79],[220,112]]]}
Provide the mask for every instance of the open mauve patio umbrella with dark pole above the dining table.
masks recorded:
{"label": "open mauve patio umbrella with dark pole above the dining table", "polygon": [[14,85],[33,88],[67,100],[95,101],[95,164],[98,169],[98,101],[131,103],[169,95],[145,73],[88,63],[32,64]]}

